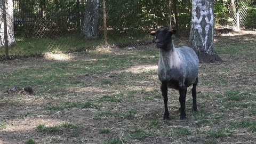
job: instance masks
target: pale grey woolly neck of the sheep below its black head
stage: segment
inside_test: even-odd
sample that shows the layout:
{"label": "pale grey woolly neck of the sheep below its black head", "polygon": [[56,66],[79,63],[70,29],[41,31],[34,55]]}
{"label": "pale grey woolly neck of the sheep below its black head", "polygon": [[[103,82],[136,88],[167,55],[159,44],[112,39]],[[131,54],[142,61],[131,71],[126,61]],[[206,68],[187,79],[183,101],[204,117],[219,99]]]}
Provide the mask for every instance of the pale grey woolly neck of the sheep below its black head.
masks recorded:
{"label": "pale grey woolly neck of the sheep below its black head", "polygon": [[160,50],[159,62],[161,62],[165,66],[165,68],[178,67],[180,65],[180,58],[177,51],[175,50],[173,42],[170,42],[167,46],[167,50]]}

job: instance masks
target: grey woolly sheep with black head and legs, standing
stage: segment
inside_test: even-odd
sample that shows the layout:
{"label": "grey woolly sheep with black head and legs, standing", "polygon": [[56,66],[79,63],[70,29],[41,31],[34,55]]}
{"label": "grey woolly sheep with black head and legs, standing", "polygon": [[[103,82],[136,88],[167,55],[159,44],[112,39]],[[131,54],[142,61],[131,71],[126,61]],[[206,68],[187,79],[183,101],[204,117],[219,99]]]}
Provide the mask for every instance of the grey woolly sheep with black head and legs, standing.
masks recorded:
{"label": "grey woolly sheep with black head and legs, standing", "polygon": [[193,85],[193,110],[197,111],[196,86],[198,83],[199,60],[195,51],[190,47],[174,47],[172,35],[175,32],[176,30],[162,28],[149,33],[156,36],[156,47],[160,49],[157,71],[164,99],[164,120],[169,119],[170,115],[167,107],[167,88],[179,90],[180,119],[186,119],[187,87]]}

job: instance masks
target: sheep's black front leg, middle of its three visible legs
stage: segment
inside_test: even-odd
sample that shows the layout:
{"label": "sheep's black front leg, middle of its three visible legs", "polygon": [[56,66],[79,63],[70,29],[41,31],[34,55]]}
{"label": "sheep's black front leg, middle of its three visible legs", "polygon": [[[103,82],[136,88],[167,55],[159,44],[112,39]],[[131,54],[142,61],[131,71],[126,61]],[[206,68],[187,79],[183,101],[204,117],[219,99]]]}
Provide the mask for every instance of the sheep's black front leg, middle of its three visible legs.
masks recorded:
{"label": "sheep's black front leg, middle of its three visible legs", "polygon": [[185,112],[185,108],[186,108],[186,91],[187,91],[187,87],[183,86],[181,87],[181,89],[179,90],[180,93],[180,119],[185,119],[186,118],[186,112]]}

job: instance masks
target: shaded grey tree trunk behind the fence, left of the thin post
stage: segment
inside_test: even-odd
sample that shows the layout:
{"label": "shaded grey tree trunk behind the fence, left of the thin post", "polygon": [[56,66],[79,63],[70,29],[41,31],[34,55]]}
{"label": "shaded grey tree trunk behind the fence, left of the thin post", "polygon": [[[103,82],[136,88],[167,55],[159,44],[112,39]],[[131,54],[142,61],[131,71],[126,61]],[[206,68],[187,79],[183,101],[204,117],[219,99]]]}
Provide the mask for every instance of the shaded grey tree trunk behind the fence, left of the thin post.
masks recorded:
{"label": "shaded grey tree trunk behind the fence, left of the thin post", "polygon": [[98,23],[99,23],[99,0],[88,0],[87,9],[85,12],[82,35],[86,38],[98,38]]}

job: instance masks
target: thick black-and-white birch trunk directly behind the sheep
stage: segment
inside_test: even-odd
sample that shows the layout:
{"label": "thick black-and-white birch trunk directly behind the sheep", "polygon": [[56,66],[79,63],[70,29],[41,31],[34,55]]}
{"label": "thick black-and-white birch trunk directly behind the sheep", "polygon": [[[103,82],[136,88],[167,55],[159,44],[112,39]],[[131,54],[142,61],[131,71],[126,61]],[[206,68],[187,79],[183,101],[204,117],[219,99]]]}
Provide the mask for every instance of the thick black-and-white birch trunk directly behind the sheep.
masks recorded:
{"label": "thick black-and-white birch trunk directly behind the sheep", "polygon": [[213,0],[193,0],[189,46],[200,62],[222,61],[214,51]]}

